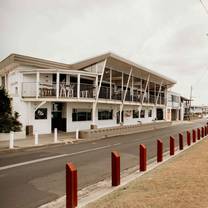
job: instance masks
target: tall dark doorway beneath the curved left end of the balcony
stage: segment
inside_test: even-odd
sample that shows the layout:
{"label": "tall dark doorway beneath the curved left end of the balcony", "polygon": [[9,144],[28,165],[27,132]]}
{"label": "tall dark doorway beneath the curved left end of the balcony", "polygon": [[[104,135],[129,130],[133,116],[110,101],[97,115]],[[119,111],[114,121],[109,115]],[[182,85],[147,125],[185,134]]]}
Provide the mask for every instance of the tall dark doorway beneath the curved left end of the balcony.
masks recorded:
{"label": "tall dark doorway beneath the curved left end of the balcony", "polygon": [[63,112],[65,103],[56,102],[52,103],[51,112],[51,130],[54,131],[57,128],[59,131],[66,131],[66,118],[64,118]]}

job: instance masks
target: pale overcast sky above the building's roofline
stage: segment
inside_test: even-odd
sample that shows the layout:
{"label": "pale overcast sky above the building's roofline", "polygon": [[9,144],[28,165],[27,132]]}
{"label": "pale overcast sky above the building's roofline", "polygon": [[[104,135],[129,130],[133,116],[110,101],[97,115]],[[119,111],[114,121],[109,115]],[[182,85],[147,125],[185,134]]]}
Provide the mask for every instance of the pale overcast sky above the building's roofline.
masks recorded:
{"label": "pale overcast sky above the building's roofline", "polygon": [[[208,0],[203,0],[208,7]],[[208,15],[200,0],[0,0],[0,59],[65,63],[112,51],[208,104]]]}

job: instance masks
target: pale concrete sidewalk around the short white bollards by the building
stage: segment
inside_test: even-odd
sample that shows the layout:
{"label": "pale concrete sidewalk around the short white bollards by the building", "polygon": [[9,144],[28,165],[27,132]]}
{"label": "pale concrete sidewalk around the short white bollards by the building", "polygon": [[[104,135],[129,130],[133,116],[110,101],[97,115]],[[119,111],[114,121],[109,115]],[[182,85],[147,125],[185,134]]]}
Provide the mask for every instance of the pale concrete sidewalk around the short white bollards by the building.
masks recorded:
{"label": "pale concrete sidewalk around the short white bollards by the building", "polygon": [[74,134],[64,132],[58,133],[58,141],[56,143],[54,142],[54,134],[39,135],[38,138],[38,145],[35,145],[35,136],[27,136],[25,139],[16,139],[14,140],[14,149],[9,149],[9,141],[0,141],[0,151],[12,151],[23,148],[73,143],[77,141]]}

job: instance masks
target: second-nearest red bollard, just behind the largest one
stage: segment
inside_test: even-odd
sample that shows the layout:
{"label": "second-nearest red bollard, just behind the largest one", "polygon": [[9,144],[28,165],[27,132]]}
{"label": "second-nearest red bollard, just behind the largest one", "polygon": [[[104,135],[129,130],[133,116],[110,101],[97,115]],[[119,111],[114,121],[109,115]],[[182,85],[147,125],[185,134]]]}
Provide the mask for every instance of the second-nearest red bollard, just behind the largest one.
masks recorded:
{"label": "second-nearest red bollard, just behind the largest one", "polygon": [[111,152],[111,174],[112,186],[120,185],[120,155],[118,152]]}

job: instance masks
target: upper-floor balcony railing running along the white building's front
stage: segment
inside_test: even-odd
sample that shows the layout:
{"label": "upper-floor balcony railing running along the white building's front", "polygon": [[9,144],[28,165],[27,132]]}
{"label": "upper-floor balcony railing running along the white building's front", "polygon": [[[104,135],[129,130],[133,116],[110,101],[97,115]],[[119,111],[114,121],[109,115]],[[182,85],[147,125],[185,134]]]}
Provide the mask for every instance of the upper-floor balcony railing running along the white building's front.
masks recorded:
{"label": "upper-floor balcony railing running along the white building's front", "polygon": [[[60,83],[59,90],[57,91],[56,83],[37,83],[37,82],[24,82],[22,83],[22,97],[23,98],[78,98],[78,84],[77,83]],[[97,88],[93,84],[80,83],[79,87],[80,98],[96,98]],[[58,96],[57,96],[58,93]],[[110,87],[101,86],[99,98],[121,101],[123,99],[124,91],[121,89],[112,89]],[[142,96],[137,90],[127,90],[125,101],[129,102],[142,102]],[[144,103],[155,104],[156,96],[146,95]],[[165,98],[159,96],[157,104],[165,104]]]}

